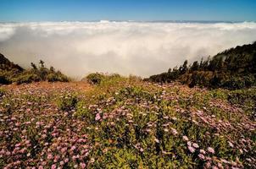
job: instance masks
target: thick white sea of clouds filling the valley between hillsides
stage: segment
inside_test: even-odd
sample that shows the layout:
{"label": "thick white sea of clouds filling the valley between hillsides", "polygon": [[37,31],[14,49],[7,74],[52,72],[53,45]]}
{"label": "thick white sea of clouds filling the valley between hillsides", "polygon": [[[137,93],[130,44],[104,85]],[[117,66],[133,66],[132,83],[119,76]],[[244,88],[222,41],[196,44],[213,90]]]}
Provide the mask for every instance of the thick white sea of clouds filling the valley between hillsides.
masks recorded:
{"label": "thick white sea of clouds filling the valley between hillsides", "polygon": [[0,52],[25,68],[40,59],[64,74],[147,77],[256,41],[256,23],[0,23]]}

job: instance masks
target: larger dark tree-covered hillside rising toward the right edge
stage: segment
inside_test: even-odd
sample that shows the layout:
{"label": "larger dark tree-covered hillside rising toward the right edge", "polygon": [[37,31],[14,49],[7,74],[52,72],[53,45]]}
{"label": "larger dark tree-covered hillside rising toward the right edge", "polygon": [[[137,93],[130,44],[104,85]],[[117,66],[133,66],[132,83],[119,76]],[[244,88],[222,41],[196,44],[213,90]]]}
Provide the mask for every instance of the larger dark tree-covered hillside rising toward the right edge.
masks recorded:
{"label": "larger dark tree-covered hillside rising toward the right edge", "polygon": [[179,81],[190,87],[198,85],[230,90],[251,87],[256,85],[256,42],[225,50],[190,65],[185,61],[179,68],[170,68],[166,73],[145,80],[159,83]]}

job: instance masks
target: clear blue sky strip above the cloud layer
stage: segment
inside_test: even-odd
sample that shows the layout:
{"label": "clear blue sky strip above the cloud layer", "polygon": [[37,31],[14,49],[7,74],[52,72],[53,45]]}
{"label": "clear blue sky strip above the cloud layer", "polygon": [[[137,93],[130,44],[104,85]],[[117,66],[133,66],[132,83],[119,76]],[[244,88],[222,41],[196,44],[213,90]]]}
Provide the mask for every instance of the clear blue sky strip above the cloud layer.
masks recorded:
{"label": "clear blue sky strip above the cloud layer", "polygon": [[0,21],[255,21],[256,0],[0,0]]}

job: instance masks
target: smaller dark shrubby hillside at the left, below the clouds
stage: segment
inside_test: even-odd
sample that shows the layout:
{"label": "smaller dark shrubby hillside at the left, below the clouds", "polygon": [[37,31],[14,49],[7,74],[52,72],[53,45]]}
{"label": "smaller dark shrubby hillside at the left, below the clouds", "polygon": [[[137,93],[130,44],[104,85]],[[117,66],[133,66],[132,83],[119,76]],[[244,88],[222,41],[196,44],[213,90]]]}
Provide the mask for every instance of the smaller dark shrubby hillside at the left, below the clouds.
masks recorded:
{"label": "smaller dark shrubby hillside at the left, below the clouds", "polygon": [[30,69],[21,68],[18,64],[11,63],[6,57],[0,54],[0,84],[8,85],[48,81],[48,82],[68,82],[70,79],[56,71],[53,67],[46,68],[44,62],[40,61],[40,66],[31,63]]}

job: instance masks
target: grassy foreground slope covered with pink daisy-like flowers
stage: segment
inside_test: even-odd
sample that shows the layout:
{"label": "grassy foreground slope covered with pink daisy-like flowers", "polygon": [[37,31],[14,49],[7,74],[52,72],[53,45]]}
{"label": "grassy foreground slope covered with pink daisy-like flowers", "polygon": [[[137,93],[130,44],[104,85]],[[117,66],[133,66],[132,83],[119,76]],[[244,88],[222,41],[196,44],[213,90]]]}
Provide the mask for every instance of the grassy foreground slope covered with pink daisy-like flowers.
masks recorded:
{"label": "grassy foreground slope covered with pink daisy-like flowers", "polygon": [[255,89],[116,77],[9,85],[0,95],[0,167],[256,167]]}

